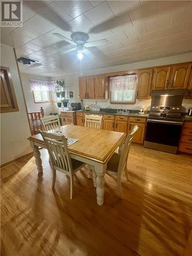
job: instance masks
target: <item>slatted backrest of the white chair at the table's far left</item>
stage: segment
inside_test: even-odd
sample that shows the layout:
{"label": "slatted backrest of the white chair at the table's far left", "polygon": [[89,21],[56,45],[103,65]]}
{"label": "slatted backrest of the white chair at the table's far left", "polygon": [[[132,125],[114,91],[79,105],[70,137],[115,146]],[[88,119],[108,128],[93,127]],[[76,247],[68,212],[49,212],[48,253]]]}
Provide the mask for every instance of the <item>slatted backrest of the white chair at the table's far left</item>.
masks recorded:
{"label": "slatted backrest of the white chair at the table's far left", "polygon": [[60,128],[60,122],[57,115],[45,116],[40,118],[42,130],[50,131]]}

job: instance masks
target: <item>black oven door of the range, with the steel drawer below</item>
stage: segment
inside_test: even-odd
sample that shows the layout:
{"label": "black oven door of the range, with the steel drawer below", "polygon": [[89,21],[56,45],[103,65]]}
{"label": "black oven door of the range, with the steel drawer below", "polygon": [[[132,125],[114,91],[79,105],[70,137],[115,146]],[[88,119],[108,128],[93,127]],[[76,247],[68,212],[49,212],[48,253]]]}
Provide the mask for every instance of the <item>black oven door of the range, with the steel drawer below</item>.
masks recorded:
{"label": "black oven door of the range, with the steel drawer below", "polygon": [[182,121],[147,119],[144,147],[177,153]]}

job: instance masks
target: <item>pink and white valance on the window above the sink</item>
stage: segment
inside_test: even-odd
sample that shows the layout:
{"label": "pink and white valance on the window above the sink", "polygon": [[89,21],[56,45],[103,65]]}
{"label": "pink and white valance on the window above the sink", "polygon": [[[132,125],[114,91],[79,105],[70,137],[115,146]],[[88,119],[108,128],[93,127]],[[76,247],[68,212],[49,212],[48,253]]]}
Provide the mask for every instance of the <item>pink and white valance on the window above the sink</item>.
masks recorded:
{"label": "pink and white valance on the window above the sink", "polygon": [[110,91],[135,90],[137,85],[137,75],[110,77]]}

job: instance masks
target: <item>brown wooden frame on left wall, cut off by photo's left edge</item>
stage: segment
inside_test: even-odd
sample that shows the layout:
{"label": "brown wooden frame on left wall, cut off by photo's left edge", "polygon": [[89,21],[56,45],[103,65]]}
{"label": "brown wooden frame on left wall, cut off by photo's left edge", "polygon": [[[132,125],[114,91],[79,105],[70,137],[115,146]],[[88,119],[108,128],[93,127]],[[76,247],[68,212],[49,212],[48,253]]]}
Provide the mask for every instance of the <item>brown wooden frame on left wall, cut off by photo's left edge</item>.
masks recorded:
{"label": "brown wooden frame on left wall, cut off by photo's left edge", "polygon": [[1,108],[0,112],[1,113],[18,112],[19,109],[18,109],[17,99],[16,99],[16,95],[15,95],[15,89],[13,86],[13,80],[11,77],[10,69],[8,67],[3,67],[3,66],[1,66],[1,69],[7,71],[8,82],[9,82],[8,94],[10,96],[10,106],[7,108]]}

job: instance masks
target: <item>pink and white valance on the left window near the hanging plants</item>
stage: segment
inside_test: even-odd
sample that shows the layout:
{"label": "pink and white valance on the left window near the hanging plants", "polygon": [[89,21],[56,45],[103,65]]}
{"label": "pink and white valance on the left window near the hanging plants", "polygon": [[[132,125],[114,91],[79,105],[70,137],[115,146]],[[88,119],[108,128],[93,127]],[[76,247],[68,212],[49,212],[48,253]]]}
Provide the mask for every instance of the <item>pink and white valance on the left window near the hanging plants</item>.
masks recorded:
{"label": "pink and white valance on the left window near the hanging plants", "polygon": [[42,81],[30,79],[30,90],[33,91],[53,91],[55,86],[54,81]]}

